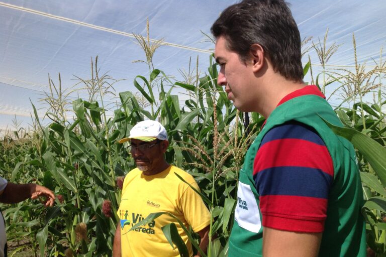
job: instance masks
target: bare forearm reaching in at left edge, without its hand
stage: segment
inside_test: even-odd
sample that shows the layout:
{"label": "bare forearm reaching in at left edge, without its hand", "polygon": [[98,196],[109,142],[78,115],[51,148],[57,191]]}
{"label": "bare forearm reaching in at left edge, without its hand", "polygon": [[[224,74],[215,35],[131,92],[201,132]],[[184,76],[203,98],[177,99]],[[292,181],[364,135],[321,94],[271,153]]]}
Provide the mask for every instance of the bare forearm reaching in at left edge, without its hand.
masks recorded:
{"label": "bare forearm reaching in at left edge, without its hand", "polygon": [[14,184],[8,182],[7,187],[0,195],[0,202],[2,203],[18,203],[31,197],[33,187],[36,184]]}

